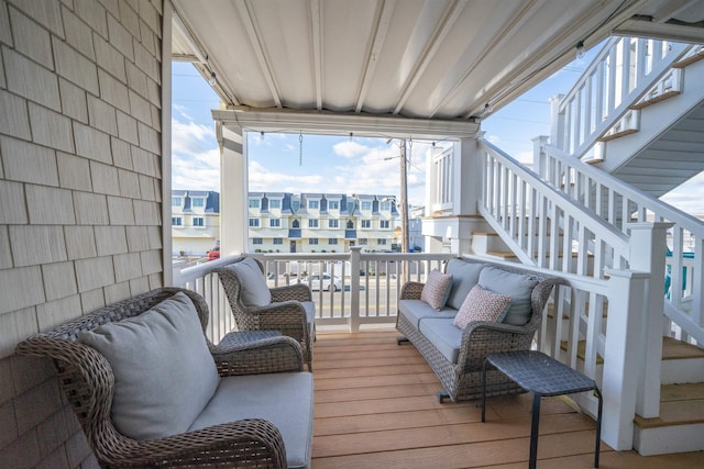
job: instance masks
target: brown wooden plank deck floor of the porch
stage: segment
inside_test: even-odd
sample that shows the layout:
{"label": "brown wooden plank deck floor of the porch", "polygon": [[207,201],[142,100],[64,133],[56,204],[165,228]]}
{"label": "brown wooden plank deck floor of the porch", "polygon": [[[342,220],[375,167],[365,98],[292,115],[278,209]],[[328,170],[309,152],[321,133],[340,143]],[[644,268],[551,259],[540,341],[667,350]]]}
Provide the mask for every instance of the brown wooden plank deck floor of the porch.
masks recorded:
{"label": "brown wooden plank deck floor of the porch", "polygon": [[[440,382],[393,330],[319,333],[314,469],[525,468],[530,395],[492,398],[486,423],[474,402],[439,404]],[[542,401],[539,468],[591,468],[595,423],[561,398]],[[602,443],[602,468],[704,467],[704,453],[641,457]]]}

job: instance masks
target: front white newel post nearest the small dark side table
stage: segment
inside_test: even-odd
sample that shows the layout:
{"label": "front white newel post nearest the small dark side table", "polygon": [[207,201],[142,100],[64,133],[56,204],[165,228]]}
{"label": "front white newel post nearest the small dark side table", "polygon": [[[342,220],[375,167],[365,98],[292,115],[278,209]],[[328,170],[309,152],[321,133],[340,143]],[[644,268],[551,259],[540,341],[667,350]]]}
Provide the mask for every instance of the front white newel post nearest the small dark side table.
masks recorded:
{"label": "front white newel post nearest the small dark side table", "polygon": [[644,364],[641,323],[646,316],[646,286],[650,275],[614,269],[605,269],[605,273],[609,280],[602,439],[616,450],[628,450],[634,443],[636,388]]}

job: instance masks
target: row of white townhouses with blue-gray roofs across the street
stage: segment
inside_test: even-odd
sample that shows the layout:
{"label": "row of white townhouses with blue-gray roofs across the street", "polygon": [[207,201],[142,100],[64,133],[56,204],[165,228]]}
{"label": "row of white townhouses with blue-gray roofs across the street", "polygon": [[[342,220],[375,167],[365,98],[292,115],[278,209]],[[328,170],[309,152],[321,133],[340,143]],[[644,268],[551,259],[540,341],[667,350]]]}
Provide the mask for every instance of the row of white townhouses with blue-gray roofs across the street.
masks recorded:
{"label": "row of white townhouses with blue-gray roofs across the street", "polygon": [[[250,253],[392,250],[399,219],[394,196],[249,192]],[[220,194],[172,191],[174,254],[205,255],[220,238]]]}

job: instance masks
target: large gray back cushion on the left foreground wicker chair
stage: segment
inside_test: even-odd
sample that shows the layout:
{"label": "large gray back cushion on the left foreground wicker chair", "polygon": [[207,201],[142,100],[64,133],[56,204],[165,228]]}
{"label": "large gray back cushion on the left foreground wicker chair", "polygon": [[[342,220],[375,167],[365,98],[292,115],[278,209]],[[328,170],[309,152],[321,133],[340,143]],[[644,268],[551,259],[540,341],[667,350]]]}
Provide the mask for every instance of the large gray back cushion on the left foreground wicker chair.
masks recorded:
{"label": "large gray back cushion on the left foreground wicker chair", "polygon": [[133,439],[186,432],[220,382],[196,308],[183,292],[139,316],[81,333],[78,340],[110,364],[112,422]]}

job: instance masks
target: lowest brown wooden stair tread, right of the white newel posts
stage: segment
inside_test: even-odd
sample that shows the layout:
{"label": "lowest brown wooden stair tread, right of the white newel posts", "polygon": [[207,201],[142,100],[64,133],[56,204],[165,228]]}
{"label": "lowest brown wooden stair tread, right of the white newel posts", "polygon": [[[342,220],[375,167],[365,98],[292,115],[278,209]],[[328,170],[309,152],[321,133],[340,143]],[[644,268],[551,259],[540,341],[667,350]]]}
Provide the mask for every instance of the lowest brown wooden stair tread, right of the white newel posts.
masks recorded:
{"label": "lowest brown wooden stair tread, right of the white newel posts", "polygon": [[644,418],[636,415],[635,423],[641,428],[704,423],[704,383],[663,386],[660,416]]}

